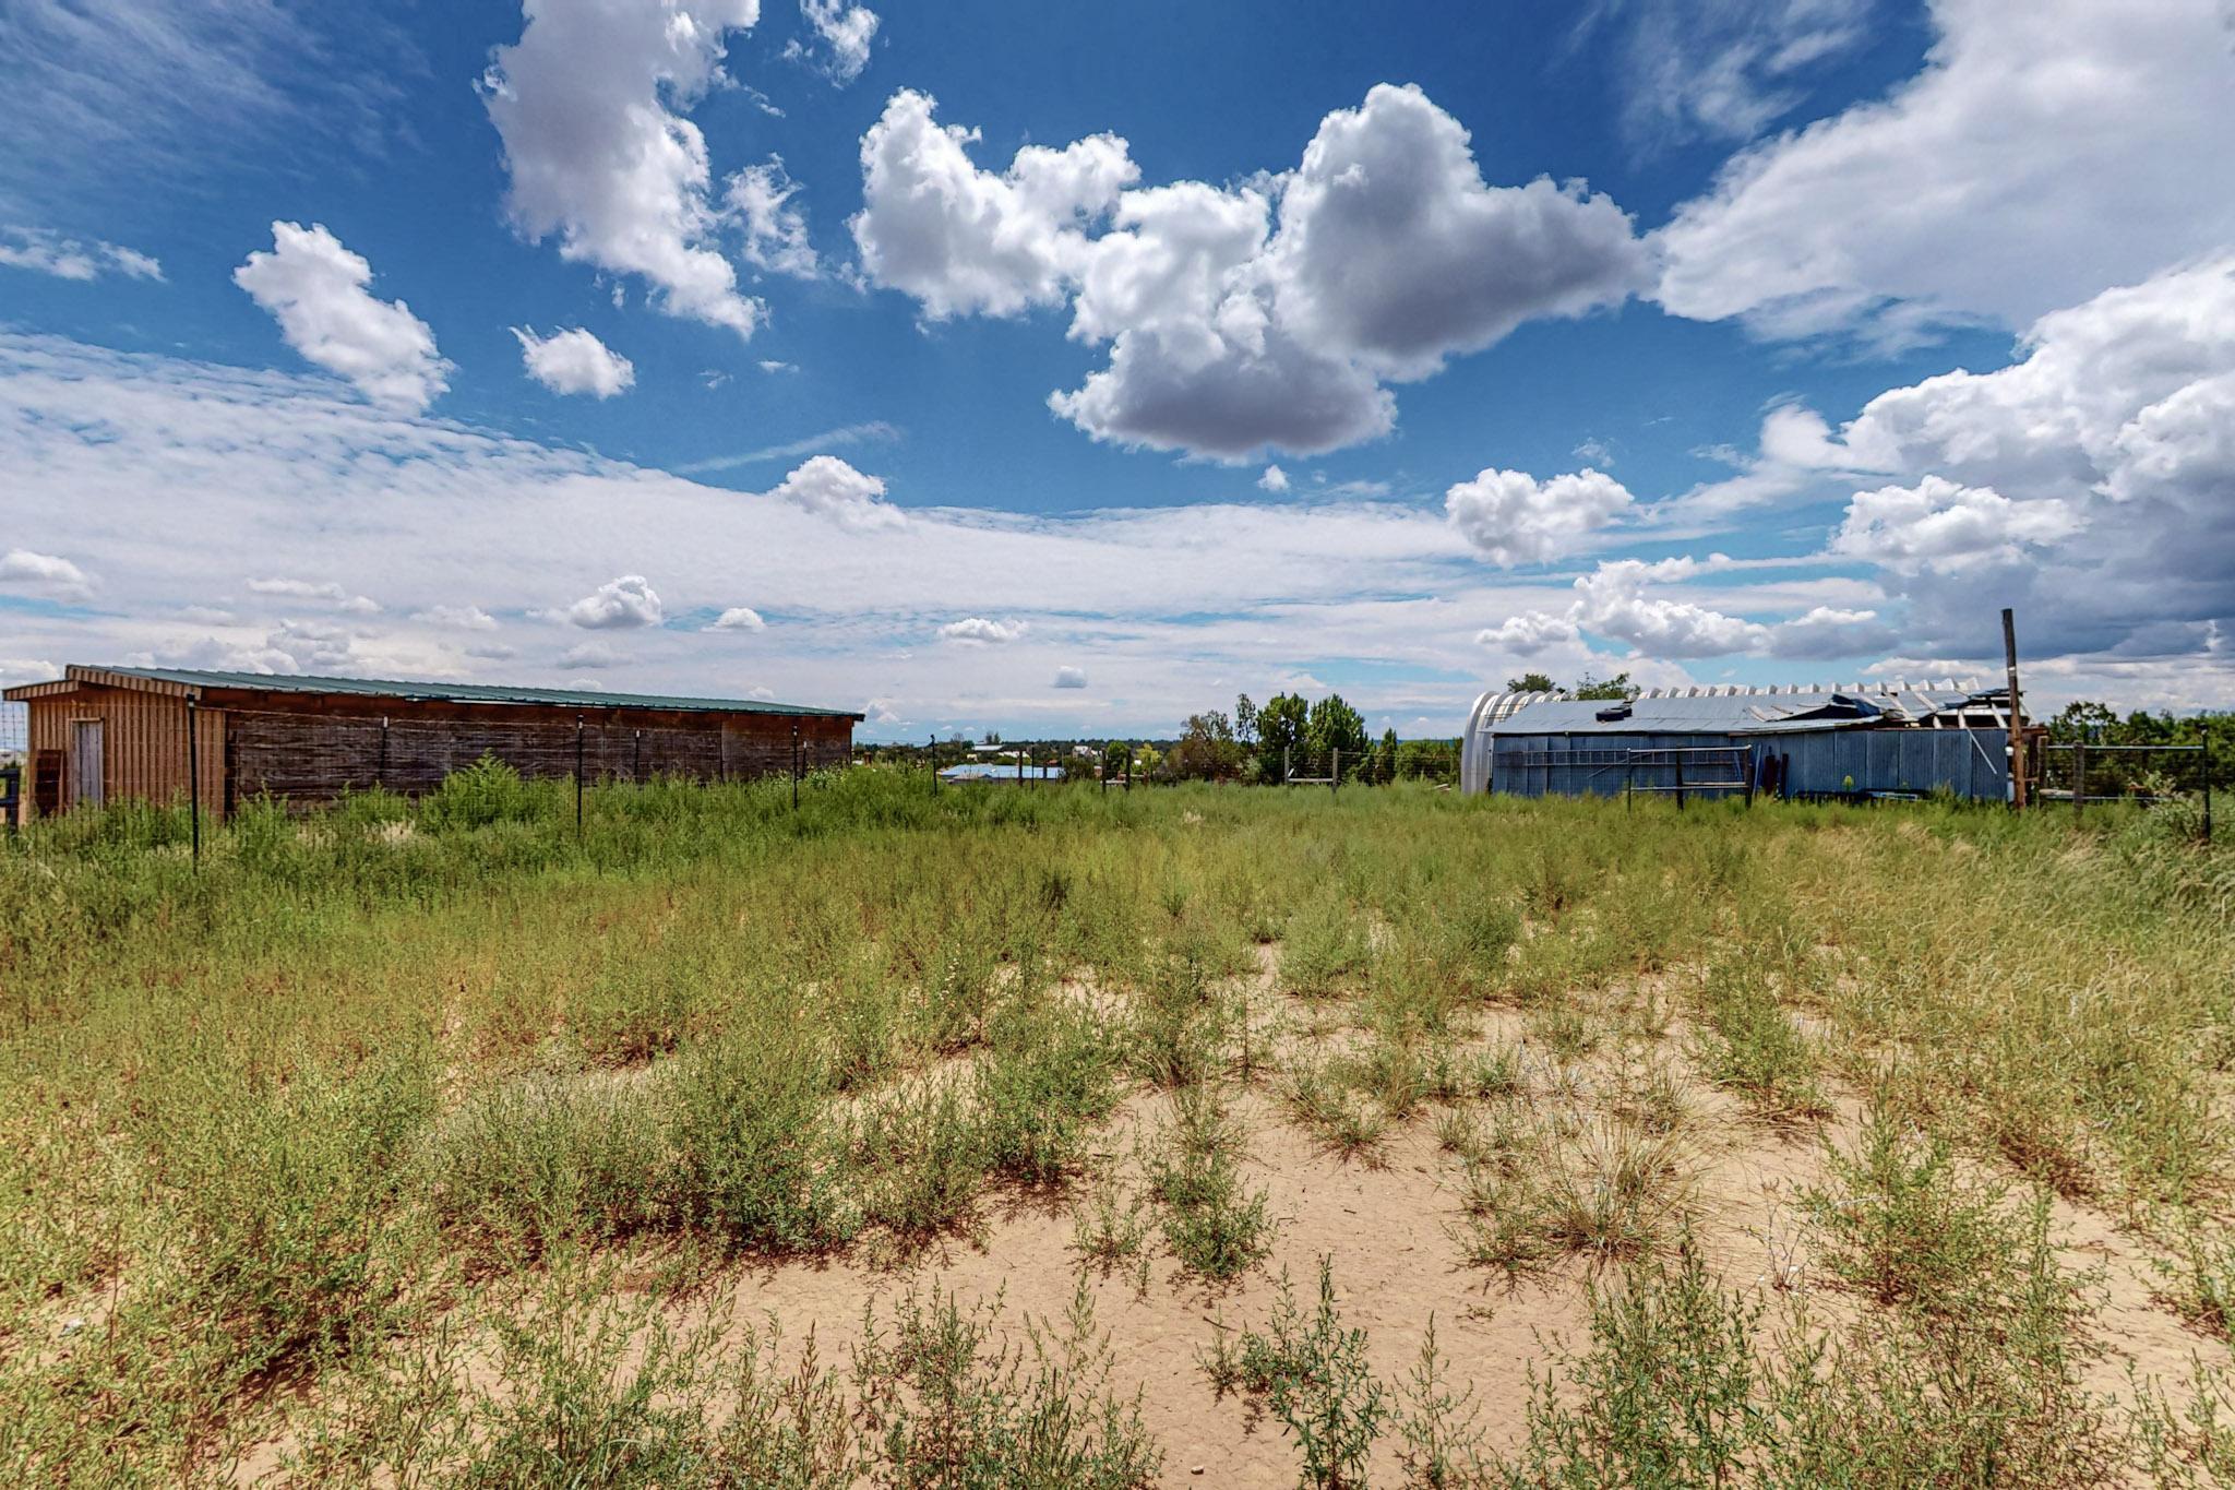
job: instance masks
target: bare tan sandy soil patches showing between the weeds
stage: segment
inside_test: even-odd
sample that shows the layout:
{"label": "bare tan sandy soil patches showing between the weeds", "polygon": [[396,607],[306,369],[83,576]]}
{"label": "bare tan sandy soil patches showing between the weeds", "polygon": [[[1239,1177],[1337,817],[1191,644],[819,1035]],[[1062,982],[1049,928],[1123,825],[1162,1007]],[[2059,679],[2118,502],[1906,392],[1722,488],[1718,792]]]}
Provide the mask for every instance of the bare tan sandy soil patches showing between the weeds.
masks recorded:
{"label": "bare tan sandy soil patches showing between the weeds", "polygon": [[[1267,967],[1269,972],[1269,967]],[[1294,1057],[1296,1041],[1321,1048],[1348,1039],[1341,1019],[1314,1019],[1310,1010],[1265,990],[1254,1003],[1285,1034],[1274,1041],[1278,1057]],[[1299,1030],[1337,1030],[1299,1034]],[[1556,1066],[1529,1050],[1522,1016],[1491,1010],[1480,1032],[1489,1041],[1520,1041],[1531,1095],[1520,1101],[1551,1101],[1542,1090]],[[1687,1112],[1685,1135],[1692,1186],[1687,1215],[1696,1244],[1721,1273],[1725,1287],[1743,1289],[1772,1309],[1808,1300],[1817,1320],[1853,1318],[1851,1293],[1826,1287],[1817,1276],[1799,1224],[1799,1195],[1824,1182],[1824,1142],[1846,1142],[1857,1126],[1853,1099],[1839,1099],[1833,1117],[1808,1130],[1779,1130],[1746,1112],[1732,1097],[1699,1079],[1685,1061],[1681,1028],[1667,1030],[1652,1048],[1681,1079]],[[1587,1106],[1607,1101],[1609,1057],[1567,1066],[1569,1081],[1585,1083]],[[1071,1195],[986,1195],[968,1235],[945,1238],[894,1260],[874,1244],[845,1253],[780,1262],[740,1264],[722,1282],[735,1284],[700,1293],[720,1296],[733,1311],[735,1338],[773,1320],[780,1331],[778,1360],[789,1367],[814,1338],[825,1365],[840,1372],[860,1338],[863,1307],[878,1316],[905,1291],[928,1293],[934,1284],[961,1302],[1001,1298],[1004,1327],[1024,1320],[1059,1322],[1080,1278],[1088,1280],[1095,1322],[1113,1347],[1111,1385],[1118,1394],[1140,1394],[1149,1432],[1164,1448],[1162,1481],[1169,1486],[1276,1488],[1296,1483],[1296,1452],[1278,1421],[1247,1396],[1216,1396],[1202,1358],[1218,1325],[1240,1329],[1265,1322],[1285,1271],[1299,1300],[1310,1305],[1319,1260],[1330,1258],[1345,1327],[1370,1336],[1370,1360],[1383,1383],[1399,1383],[1413,1369],[1421,1338],[1435,1320],[1437,1345],[1448,1376],[1471,1385],[1480,1425],[1491,1448],[1513,1448],[1524,1432],[1531,1372],[1544,1374],[1558,1345],[1585,1343],[1587,1260],[1527,1273],[1518,1282],[1502,1271],[1466,1262],[1462,1249],[1462,1162],[1435,1142],[1435,1110],[1395,1126],[1370,1155],[1339,1157],[1316,1135],[1301,1128],[1272,1095],[1274,1077],[1236,1088],[1231,1112],[1249,1133],[1245,1175],[1263,1186],[1276,1222],[1272,1255],[1238,1282],[1207,1289],[1189,1278],[1151,1231],[1147,1287],[1138,1269],[1102,1273],[1075,1249]],[[1160,1092],[1129,1097],[1102,1137],[1102,1157],[1129,1168],[1142,1135],[1164,1124],[1169,1099]],[[1149,1204],[1149,1202],[1142,1202]],[[2204,1343],[2155,1296],[2157,1276],[2141,1242],[2099,1211],[2056,1202],[2054,1226],[2070,1267],[2101,1267],[2103,1282],[2094,1311],[2099,1356],[2087,1365],[2087,1385],[2128,1396],[2130,1369],[2177,1387],[2193,1351]],[[702,1309],[704,1305],[686,1305]],[[239,1479],[268,1474],[279,1445],[264,1443]],[[1397,1439],[1377,1448],[1372,1483],[1395,1483]]]}

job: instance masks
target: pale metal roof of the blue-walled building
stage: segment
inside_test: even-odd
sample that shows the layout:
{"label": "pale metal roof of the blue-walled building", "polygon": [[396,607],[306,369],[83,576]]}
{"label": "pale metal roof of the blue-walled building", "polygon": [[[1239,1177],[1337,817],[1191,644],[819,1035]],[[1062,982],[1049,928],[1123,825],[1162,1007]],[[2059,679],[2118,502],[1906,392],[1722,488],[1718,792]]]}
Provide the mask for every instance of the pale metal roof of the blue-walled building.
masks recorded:
{"label": "pale metal roof of the blue-walled building", "polygon": [[1540,699],[1489,726],[1491,735],[1775,735],[1790,730],[1913,724],[1971,695],[1960,688],[1788,690],[1643,695],[1618,699]]}

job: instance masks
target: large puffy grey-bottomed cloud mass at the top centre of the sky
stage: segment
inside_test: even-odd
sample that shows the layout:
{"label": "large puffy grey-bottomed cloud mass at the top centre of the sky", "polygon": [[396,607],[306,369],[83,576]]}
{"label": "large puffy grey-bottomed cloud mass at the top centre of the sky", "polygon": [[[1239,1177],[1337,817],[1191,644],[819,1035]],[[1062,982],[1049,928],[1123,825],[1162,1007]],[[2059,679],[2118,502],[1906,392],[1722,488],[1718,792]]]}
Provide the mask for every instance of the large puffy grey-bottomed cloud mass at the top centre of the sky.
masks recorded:
{"label": "large puffy grey-bottomed cloud mass at the top centre of the sky", "polygon": [[970,161],[974,139],[894,94],[863,136],[863,270],[930,319],[1068,302],[1109,364],[1048,407],[1120,445],[1243,460],[1370,440],[1395,422],[1383,382],[1618,304],[1645,266],[1607,197],[1486,185],[1417,87],[1375,87],[1292,172],[1234,188],[1135,190],[1113,134],[1026,145],[1004,172]]}

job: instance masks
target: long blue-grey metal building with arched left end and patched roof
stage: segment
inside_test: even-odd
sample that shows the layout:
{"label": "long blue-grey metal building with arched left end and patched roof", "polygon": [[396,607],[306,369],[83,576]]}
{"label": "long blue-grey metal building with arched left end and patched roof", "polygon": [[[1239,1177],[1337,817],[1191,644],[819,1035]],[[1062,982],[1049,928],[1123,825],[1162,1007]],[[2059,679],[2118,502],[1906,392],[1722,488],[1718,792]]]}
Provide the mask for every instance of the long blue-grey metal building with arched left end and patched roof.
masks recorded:
{"label": "long blue-grey metal building with arched left end and patched roof", "polygon": [[1944,684],[1486,693],[1459,789],[1544,795],[2009,797],[2003,690]]}

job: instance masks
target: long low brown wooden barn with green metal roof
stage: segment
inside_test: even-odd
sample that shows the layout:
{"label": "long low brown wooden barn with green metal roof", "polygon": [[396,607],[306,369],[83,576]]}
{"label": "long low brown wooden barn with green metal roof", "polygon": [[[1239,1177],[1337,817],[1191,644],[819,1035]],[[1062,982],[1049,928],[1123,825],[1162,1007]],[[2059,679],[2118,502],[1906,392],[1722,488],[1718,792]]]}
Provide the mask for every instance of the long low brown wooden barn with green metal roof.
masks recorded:
{"label": "long low brown wooden barn with green metal roof", "polygon": [[188,668],[69,666],[4,693],[29,706],[22,815],[87,802],[201,811],[270,793],[315,804],[344,789],[418,795],[494,755],[521,775],[706,782],[845,766],[860,715],[755,699],[574,688],[393,684]]}

